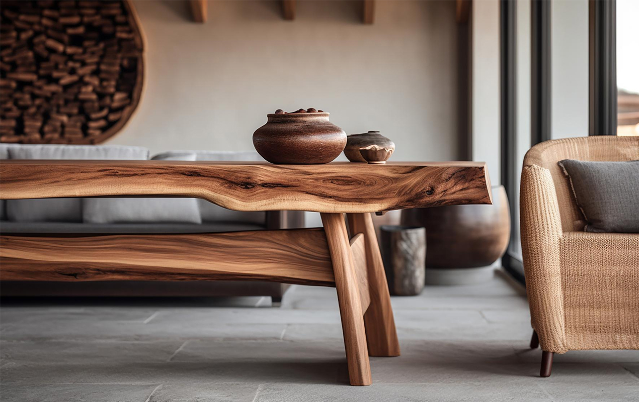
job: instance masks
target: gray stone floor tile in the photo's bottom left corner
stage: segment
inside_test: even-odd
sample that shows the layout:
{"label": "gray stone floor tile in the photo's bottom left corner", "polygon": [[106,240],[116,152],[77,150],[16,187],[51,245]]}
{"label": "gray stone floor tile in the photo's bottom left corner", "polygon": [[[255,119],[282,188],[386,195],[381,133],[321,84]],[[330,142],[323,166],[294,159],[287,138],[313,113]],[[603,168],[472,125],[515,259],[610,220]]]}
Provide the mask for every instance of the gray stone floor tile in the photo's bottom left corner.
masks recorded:
{"label": "gray stone floor tile in the photo's bottom left corner", "polygon": [[3,384],[1,396],[3,402],[146,402],[156,387],[130,384]]}

